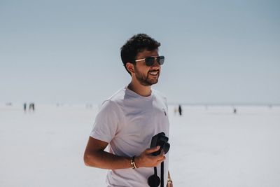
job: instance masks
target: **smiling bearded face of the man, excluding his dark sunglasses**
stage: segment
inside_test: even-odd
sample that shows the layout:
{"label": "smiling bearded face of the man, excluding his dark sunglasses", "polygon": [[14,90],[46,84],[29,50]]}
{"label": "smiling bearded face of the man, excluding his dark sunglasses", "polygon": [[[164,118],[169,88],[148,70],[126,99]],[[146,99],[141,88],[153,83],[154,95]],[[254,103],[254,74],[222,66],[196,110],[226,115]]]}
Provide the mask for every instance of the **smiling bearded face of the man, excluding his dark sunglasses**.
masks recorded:
{"label": "smiling bearded face of the man, excluding his dark sunglasses", "polygon": [[[144,50],[137,54],[136,60],[144,59],[146,57],[158,57],[158,50]],[[146,66],[145,60],[135,63],[135,78],[137,78],[137,81],[139,81],[141,85],[153,85],[158,83],[158,78],[160,76],[160,64],[158,64],[156,60],[151,67]]]}

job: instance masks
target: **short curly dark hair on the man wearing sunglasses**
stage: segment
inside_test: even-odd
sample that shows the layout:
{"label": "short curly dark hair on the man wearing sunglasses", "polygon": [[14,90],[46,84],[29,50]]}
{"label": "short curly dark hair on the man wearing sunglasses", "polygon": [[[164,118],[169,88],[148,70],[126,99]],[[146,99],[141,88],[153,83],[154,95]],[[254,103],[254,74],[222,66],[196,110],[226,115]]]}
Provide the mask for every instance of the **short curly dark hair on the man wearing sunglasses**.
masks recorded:
{"label": "short curly dark hair on the man wearing sunglasses", "polygon": [[122,48],[120,48],[120,57],[122,58],[123,65],[129,74],[126,64],[127,62],[133,62],[137,57],[137,54],[144,50],[155,50],[160,47],[160,43],[155,41],[147,34],[136,34],[130,38]]}

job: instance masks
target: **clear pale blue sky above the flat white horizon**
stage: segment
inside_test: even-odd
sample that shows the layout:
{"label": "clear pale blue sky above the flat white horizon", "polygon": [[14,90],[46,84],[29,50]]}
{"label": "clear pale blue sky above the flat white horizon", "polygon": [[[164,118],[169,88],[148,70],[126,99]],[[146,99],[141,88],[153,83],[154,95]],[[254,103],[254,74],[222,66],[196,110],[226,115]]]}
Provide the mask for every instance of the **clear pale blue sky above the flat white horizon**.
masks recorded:
{"label": "clear pale blue sky above the flat white horizon", "polygon": [[120,47],[160,41],[169,103],[280,104],[279,1],[0,0],[0,102],[100,104]]}

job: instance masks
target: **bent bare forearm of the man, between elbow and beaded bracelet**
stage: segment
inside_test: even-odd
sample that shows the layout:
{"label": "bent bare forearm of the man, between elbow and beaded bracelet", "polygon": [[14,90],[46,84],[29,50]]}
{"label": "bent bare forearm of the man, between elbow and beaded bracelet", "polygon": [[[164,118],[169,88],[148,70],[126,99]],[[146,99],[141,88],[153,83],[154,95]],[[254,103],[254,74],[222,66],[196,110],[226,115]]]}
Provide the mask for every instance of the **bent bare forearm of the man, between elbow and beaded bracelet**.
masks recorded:
{"label": "bent bare forearm of the man, between elbow and beaded bracelet", "polygon": [[130,168],[131,158],[113,155],[106,151],[94,151],[85,153],[85,165],[102,169],[126,169]]}

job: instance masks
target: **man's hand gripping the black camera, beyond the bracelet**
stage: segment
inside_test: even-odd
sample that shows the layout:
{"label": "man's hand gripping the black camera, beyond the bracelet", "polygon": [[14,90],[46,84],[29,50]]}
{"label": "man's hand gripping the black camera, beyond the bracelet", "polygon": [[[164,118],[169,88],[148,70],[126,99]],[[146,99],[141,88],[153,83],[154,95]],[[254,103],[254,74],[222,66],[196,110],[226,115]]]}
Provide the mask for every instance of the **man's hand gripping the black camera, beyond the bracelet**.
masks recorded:
{"label": "man's hand gripping the black camera, beyond the bracelet", "polygon": [[137,167],[156,167],[163,160],[165,160],[165,151],[161,151],[159,155],[151,155],[160,149],[160,146],[156,146],[153,148],[147,148],[141,155],[135,157],[135,165]]}

